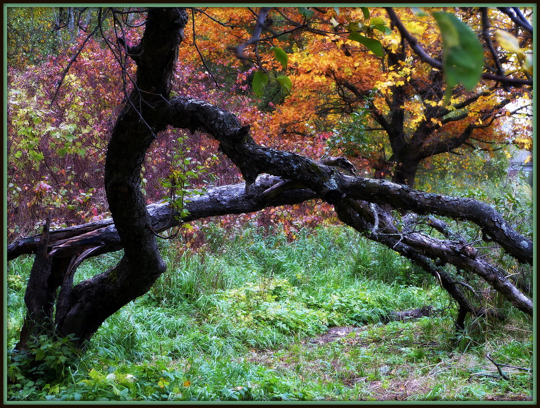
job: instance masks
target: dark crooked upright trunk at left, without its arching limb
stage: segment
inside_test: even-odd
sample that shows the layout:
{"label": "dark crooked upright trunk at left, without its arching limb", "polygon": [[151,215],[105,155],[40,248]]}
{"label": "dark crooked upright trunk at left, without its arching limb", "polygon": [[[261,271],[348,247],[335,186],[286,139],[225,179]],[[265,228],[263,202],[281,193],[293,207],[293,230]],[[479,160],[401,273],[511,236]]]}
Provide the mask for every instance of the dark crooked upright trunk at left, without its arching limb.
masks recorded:
{"label": "dark crooked upright trunk at left, without its arching limb", "polygon": [[[161,273],[156,237],[140,191],[140,168],[146,149],[163,130],[153,105],[169,97],[173,67],[187,23],[183,8],[155,8],[148,12],[146,29],[136,49],[137,79],[113,128],[107,147],[105,191],[124,256],[117,266],[72,287],[72,273],[80,256],[70,260],[64,280],[49,284],[58,296],[57,335],[74,333],[80,344],[89,339],[107,317],[150,289]],[[83,251],[84,253],[84,251]],[[86,253],[87,254],[87,253]],[[78,254],[82,255],[82,254]],[[38,307],[45,308],[45,300]],[[25,325],[42,321],[25,319]],[[19,342],[23,346],[24,339]]]}

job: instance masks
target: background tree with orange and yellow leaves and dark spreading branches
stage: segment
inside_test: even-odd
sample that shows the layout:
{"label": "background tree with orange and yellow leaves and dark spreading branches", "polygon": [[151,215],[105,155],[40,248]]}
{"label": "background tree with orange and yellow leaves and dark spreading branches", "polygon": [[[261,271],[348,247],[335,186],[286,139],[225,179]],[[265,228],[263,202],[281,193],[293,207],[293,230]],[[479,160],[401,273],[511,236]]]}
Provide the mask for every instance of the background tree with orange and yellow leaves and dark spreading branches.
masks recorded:
{"label": "background tree with orange and yellow leaves and dark spreading branches", "polygon": [[[484,50],[475,52],[480,58],[484,55],[488,73],[475,90],[445,83],[436,12],[316,8],[302,16],[294,9],[271,11],[268,18],[285,27],[261,36],[254,55],[246,60],[265,71],[283,70],[291,78],[295,92],[274,114],[287,137],[291,132],[307,135],[304,125],[311,122],[323,130],[341,129],[345,135],[336,134],[333,139],[342,151],[352,158],[369,159],[376,176],[391,174],[393,181],[413,186],[418,166],[427,158],[461,154],[463,148],[493,151],[500,143],[507,143],[510,137],[499,130],[500,118],[526,108],[510,104],[519,98],[529,99],[527,89],[521,87],[532,84],[531,65],[526,67],[523,62],[525,55],[530,56],[532,44],[527,30],[516,28],[510,17],[497,9],[441,10],[460,15],[483,41]],[[237,28],[241,23],[229,20],[228,24]],[[392,31],[390,26],[397,29]],[[518,78],[501,75],[502,64],[509,63],[508,46],[501,35],[498,42],[494,37],[508,31],[516,31],[521,38],[516,40],[522,50],[522,66],[510,70]],[[373,37],[368,38],[372,43],[366,42],[366,35]],[[376,53],[359,40],[372,44],[373,49],[378,43]],[[280,64],[271,51],[262,55],[265,47],[275,50],[280,46],[287,52],[287,64]],[[518,50],[514,47],[514,51]],[[461,58],[460,53],[474,54],[471,49],[453,52],[457,58]],[[512,62],[517,63],[516,59]],[[353,113],[366,120],[356,134],[347,127],[347,117]]]}

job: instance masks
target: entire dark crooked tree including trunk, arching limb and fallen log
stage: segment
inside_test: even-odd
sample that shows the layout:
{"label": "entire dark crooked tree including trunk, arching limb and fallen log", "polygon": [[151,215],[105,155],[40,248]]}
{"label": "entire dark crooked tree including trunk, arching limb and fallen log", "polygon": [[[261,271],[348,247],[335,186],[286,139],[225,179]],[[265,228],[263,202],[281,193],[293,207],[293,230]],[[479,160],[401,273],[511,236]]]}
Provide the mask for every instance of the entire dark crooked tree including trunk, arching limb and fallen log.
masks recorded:
{"label": "entire dark crooked tree including trunk, arching limb and fallen log", "polygon": [[[140,191],[140,168],[156,133],[167,126],[211,135],[246,181],[191,196],[185,207],[190,215],[181,222],[320,198],[334,205],[341,221],[408,257],[440,280],[465,314],[478,315],[481,311],[464,295],[459,282],[437,266],[437,261],[482,277],[515,307],[532,315],[531,300],[503,271],[476,257],[474,248],[468,250],[462,243],[435,239],[414,228],[400,230],[392,214],[381,207],[390,205],[417,214],[474,222],[517,260],[532,263],[532,242],[485,203],[348,176],[301,155],[258,145],[249,126],[241,126],[235,115],[217,106],[193,98],[170,98],[173,67],[186,22],[185,9],[151,9],[143,38],[127,50],[137,63],[137,80],[125,99],[107,148],[105,190],[112,220],[50,233],[46,226],[42,237],[26,237],[8,247],[9,259],[36,253],[28,286],[36,297],[32,301],[29,297],[27,302],[29,314],[18,348],[24,348],[28,334],[36,332],[33,325],[47,324],[56,335],[75,334],[83,344],[107,317],[146,293],[165,271],[154,233],[179,221],[171,217],[172,209],[166,203],[146,206]],[[266,175],[260,176],[263,173]],[[119,249],[124,249],[124,255],[116,266],[73,285],[80,262]],[[56,316],[51,324],[51,305],[55,302]]]}

